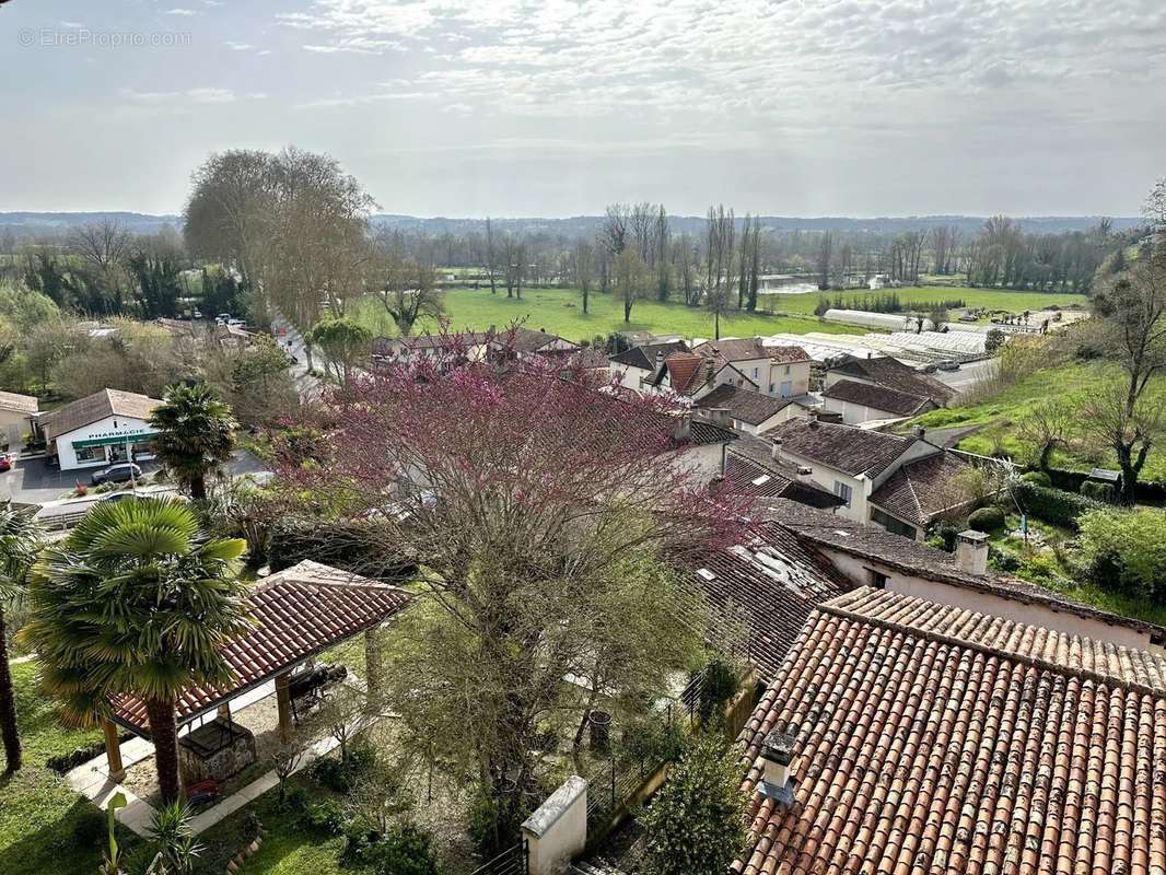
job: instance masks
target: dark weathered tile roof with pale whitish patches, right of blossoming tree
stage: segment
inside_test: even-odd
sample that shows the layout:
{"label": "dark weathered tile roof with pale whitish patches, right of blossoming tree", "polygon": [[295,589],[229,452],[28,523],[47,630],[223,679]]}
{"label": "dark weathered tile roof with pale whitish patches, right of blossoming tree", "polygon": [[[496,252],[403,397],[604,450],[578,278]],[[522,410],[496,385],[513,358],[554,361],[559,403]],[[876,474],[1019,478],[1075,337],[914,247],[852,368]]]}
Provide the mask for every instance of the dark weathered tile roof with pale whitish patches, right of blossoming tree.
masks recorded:
{"label": "dark weathered tile roof with pale whitish patches, right of blossoming tree", "polygon": [[747,656],[766,680],[777,677],[815,606],[851,588],[828,560],[772,523],[739,546],[701,558],[682,579],[725,625],[744,629]]}

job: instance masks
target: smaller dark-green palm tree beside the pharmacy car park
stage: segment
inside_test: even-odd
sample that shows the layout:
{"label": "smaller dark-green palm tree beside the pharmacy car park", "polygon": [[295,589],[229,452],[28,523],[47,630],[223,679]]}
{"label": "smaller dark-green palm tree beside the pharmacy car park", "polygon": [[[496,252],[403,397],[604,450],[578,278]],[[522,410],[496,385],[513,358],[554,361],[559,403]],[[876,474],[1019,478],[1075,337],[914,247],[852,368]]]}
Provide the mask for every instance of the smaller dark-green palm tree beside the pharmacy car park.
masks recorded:
{"label": "smaller dark-green palm tree beside the pharmacy car park", "polygon": [[205,384],[176,385],[149,418],[154,452],[192,498],[206,497],[206,476],[231,459],[236,421],[231,408]]}

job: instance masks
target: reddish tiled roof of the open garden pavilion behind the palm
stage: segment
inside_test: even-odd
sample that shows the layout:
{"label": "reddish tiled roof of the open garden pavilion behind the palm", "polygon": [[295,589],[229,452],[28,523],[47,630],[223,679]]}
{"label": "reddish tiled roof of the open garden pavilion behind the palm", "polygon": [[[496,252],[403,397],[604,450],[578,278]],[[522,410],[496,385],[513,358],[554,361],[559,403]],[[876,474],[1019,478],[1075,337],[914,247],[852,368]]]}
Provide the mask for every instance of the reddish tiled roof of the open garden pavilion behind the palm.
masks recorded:
{"label": "reddish tiled roof of the open garden pavilion behind the palm", "polygon": [[[191,687],[178,699],[178,723],[213,710],[323,650],[377,625],[409,601],[398,587],[305,560],[260,581],[248,596],[255,628],[225,649],[237,681],[230,690]],[[114,720],[147,735],[146,706],[133,696],[113,702]]]}

